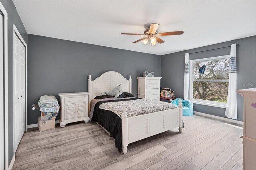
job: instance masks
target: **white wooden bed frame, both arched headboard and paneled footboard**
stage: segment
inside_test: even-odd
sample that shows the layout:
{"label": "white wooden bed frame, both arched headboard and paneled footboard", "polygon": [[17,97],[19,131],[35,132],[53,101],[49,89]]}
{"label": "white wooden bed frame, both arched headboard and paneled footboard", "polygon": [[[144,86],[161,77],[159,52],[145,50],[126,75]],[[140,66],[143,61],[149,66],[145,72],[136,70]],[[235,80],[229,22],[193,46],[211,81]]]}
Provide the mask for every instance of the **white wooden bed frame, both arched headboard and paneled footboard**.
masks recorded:
{"label": "white wooden bed frame, both arched headboard and paneled footboard", "polygon": [[[100,96],[103,91],[110,91],[117,85],[120,85],[123,92],[132,93],[132,77],[129,80],[120,73],[108,71],[100,77],[92,80],[91,75],[88,79],[89,106],[90,101],[96,96]],[[182,104],[179,101],[178,108],[169,109],[140,115],[127,117],[127,109],[123,108],[122,113],[122,146],[124,154],[127,153],[129,143],[153,136],[155,134],[171,130],[178,127],[182,132]],[[104,129],[105,130],[105,129]]]}

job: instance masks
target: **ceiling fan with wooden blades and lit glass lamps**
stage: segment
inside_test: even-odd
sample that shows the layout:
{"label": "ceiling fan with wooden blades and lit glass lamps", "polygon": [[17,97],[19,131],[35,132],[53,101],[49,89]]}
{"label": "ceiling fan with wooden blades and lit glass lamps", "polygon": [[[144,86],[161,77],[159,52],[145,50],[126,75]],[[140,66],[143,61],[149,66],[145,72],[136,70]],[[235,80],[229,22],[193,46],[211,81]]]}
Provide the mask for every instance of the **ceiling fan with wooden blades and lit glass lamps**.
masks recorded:
{"label": "ceiling fan with wooden blades and lit glass lamps", "polygon": [[158,33],[157,29],[159,27],[159,24],[156,23],[151,23],[150,26],[148,26],[148,29],[146,29],[144,31],[144,34],[132,34],[132,33],[121,33],[121,34],[125,34],[125,35],[137,35],[137,36],[146,36],[143,37],[135,42],[132,43],[136,43],[136,42],[140,42],[142,41],[142,43],[144,43],[144,45],[147,45],[148,40],[150,40],[151,45],[156,45],[156,43],[164,43],[164,40],[158,38],[158,36],[173,36],[173,35],[181,35],[184,33],[184,31],[174,31],[174,32],[162,32],[162,33]]}

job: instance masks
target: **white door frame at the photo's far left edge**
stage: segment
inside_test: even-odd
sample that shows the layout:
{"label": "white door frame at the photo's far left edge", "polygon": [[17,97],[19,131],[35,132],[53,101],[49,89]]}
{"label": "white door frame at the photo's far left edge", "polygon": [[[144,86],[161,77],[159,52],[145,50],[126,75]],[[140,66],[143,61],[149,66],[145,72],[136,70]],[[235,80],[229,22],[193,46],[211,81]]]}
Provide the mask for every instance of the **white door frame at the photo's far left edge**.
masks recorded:
{"label": "white door frame at the photo's far left edge", "polygon": [[[4,16],[4,168],[9,168],[9,148],[8,148],[8,14],[0,2],[0,12]],[[0,136],[3,137],[3,136]]]}

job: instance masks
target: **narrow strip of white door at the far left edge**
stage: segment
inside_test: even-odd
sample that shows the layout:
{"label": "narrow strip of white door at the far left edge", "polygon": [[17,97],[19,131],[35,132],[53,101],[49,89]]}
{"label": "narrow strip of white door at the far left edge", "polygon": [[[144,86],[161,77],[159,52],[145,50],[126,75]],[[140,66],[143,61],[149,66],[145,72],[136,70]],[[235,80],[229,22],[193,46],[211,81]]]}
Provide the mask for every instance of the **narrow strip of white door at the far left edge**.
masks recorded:
{"label": "narrow strip of white door at the far left edge", "polygon": [[[3,35],[3,16],[0,13],[0,35]],[[0,169],[4,169],[4,43],[0,36]]]}

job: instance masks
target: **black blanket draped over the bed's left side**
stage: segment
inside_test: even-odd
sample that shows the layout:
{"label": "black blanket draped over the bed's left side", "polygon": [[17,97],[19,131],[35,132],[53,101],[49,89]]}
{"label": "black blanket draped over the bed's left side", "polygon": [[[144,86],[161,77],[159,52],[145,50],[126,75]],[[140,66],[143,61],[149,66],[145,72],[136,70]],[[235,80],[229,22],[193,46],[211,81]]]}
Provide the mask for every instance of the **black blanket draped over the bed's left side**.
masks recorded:
{"label": "black blanket draped over the bed's left side", "polygon": [[128,101],[137,99],[140,98],[136,97],[132,99],[99,101],[94,107],[92,121],[98,122],[100,126],[104,127],[106,130],[108,130],[108,132],[110,132],[110,137],[115,139],[116,147],[118,148],[118,151],[120,153],[122,152],[122,119],[112,111],[100,109],[100,105],[107,102]]}

